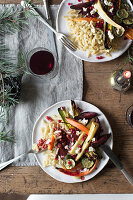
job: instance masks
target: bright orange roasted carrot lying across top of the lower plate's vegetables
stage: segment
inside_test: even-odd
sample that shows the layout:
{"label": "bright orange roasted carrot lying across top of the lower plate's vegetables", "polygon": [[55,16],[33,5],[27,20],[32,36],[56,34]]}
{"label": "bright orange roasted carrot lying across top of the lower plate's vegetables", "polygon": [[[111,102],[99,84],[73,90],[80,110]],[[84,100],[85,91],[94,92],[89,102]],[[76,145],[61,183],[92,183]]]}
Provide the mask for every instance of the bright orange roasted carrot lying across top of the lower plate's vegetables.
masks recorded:
{"label": "bright orange roasted carrot lying across top of the lower plate's vegetables", "polygon": [[72,126],[78,128],[79,130],[83,131],[87,135],[89,134],[89,129],[86,126],[84,126],[83,124],[81,124],[80,122],[77,122],[76,120],[68,118],[68,117],[66,118],[66,120]]}

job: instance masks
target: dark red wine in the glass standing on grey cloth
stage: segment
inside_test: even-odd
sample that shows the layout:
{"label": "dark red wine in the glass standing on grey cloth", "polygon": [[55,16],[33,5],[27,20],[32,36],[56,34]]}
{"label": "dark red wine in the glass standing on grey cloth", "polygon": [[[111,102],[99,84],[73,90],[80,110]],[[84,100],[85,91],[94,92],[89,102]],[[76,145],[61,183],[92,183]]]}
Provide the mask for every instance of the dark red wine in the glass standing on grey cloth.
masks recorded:
{"label": "dark red wine in the glass standing on grey cloth", "polygon": [[52,53],[41,50],[34,53],[30,58],[30,69],[34,74],[48,74],[54,68],[54,56]]}

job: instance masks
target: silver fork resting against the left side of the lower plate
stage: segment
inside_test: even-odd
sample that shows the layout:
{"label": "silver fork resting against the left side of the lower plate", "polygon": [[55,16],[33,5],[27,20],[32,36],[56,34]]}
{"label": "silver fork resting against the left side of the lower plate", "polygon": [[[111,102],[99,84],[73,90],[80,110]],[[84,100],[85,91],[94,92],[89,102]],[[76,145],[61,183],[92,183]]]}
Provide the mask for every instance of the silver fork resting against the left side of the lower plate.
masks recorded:
{"label": "silver fork resting against the left side of the lower plate", "polygon": [[[44,151],[44,150],[42,150],[42,151]],[[23,153],[23,154],[21,154],[21,155],[15,157],[15,158],[13,158],[13,159],[11,159],[11,160],[8,160],[8,161],[6,161],[6,162],[1,163],[1,164],[0,164],[0,170],[4,169],[5,167],[7,167],[8,165],[10,165],[11,163],[15,162],[16,160],[20,159],[21,157],[23,157],[23,156],[25,156],[25,155],[27,155],[27,154],[29,154],[29,153],[37,154],[37,153],[40,153],[40,152],[42,152],[42,151],[37,152],[37,151],[31,149],[31,150],[29,150],[29,151],[26,152],[26,153]]]}

